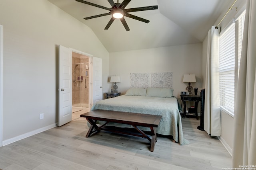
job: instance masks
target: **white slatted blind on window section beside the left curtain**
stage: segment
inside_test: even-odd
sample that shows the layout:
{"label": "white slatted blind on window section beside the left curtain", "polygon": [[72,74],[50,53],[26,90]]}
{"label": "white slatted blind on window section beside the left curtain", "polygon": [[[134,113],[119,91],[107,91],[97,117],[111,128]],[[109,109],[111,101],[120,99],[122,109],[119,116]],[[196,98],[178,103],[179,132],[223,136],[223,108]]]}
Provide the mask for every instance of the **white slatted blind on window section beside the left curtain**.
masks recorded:
{"label": "white slatted blind on window section beside the left curtain", "polygon": [[235,23],[220,35],[220,107],[234,115]]}

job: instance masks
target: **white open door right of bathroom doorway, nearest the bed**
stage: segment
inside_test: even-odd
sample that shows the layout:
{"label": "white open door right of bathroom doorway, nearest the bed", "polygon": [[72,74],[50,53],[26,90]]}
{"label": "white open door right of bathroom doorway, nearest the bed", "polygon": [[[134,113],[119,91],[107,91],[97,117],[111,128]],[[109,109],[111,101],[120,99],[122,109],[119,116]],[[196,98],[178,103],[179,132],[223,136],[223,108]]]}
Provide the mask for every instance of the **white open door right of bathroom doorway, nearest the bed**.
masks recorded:
{"label": "white open door right of bathroom doorway, nearest the bed", "polygon": [[92,104],[102,100],[102,59],[92,57]]}

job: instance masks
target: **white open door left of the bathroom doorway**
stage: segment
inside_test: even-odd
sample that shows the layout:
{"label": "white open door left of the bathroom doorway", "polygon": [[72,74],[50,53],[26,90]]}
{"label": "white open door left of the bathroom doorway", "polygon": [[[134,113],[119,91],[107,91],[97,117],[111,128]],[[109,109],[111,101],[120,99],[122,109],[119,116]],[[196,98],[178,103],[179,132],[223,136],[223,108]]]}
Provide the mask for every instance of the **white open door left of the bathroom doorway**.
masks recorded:
{"label": "white open door left of the bathroom doorway", "polygon": [[72,51],[59,45],[59,121],[62,126],[72,120]]}

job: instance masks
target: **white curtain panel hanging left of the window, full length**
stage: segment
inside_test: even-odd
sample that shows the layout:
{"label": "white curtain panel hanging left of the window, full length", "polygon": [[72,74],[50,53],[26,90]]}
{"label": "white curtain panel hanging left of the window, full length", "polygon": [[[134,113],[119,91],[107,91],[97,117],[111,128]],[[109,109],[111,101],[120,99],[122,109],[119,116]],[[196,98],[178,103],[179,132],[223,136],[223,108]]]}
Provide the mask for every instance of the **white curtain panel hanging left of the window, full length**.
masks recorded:
{"label": "white curtain panel hanging left of the window, full length", "polygon": [[208,135],[220,136],[220,98],[219,98],[219,33],[215,26],[208,31],[206,61],[204,130]]}

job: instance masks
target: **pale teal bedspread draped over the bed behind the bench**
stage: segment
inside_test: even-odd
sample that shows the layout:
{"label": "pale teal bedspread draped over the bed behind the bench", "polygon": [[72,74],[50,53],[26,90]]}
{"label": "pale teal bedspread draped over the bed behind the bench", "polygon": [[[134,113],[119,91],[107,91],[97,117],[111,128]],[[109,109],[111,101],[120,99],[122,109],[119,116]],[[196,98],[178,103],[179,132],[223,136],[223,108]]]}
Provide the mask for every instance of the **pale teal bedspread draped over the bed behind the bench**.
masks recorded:
{"label": "pale teal bedspread draped over the bed behind the bench", "polygon": [[[156,129],[156,133],[161,135],[172,135],[173,139],[180,143],[180,145],[189,144],[189,141],[183,137],[181,117],[176,98],[122,95],[101,100],[92,107],[92,110],[94,109],[162,115],[162,120]],[[119,123],[109,123],[108,125],[131,127],[130,125]],[[147,127],[140,127],[140,129],[150,131]]]}

